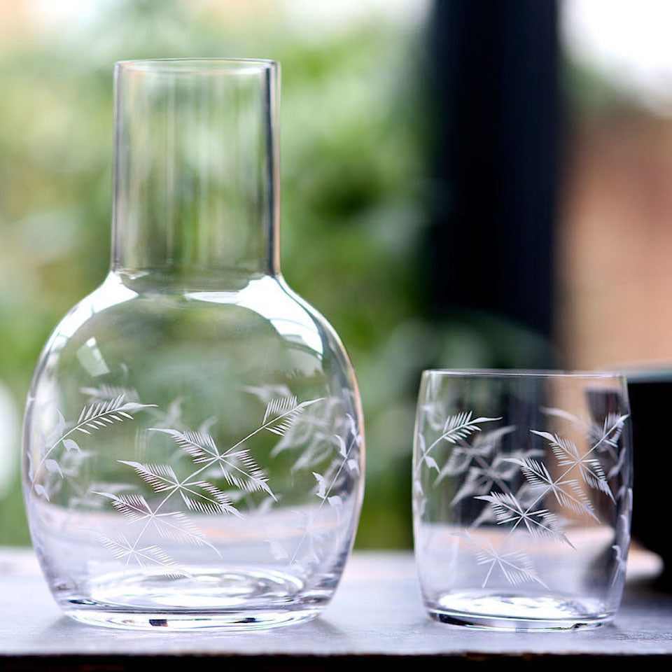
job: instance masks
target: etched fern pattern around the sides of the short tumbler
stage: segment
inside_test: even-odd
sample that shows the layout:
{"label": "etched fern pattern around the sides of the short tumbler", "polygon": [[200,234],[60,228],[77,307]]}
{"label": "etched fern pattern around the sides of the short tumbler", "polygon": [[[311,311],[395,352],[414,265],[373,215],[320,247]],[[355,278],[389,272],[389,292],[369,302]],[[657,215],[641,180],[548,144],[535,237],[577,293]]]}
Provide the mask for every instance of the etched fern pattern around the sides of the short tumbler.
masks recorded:
{"label": "etched fern pattern around the sides of the short tumbler", "polygon": [[[573,440],[557,433],[531,429],[529,433],[539,437],[547,451],[534,447],[533,440],[527,442],[526,449],[503,451],[503,438],[517,428],[491,428],[500,418],[472,419],[473,413],[465,411],[439,422],[435,407],[423,411],[430,412],[426,424],[439,435],[431,443],[426,441],[423,432],[416,437],[415,514],[422,518],[426,512],[428,498],[423,483],[428,483],[428,475],[433,472],[433,487],[447,477],[454,477],[458,482],[451,507],[465,500],[484,503],[482,512],[470,527],[454,533],[472,549],[476,564],[484,566],[482,587],[486,587],[495,575],[504,577],[512,585],[533,582],[547,587],[533,565],[526,550],[527,542],[520,532],[530,542],[553,540],[575,549],[566,533],[566,518],[552,512],[550,506],[595,522],[600,519],[594,500],[600,496],[608,498],[612,504],[624,499],[624,509],[629,507],[631,489],[622,488],[614,493],[610,486],[610,479],[626,460],[626,446],[619,444],[619,437],[629,417],[627,414],[611,413],[603,422],[595,423],[583,421],[561,409],[543,409],[547,416],[567,421],[579,431],[589,442],[587,449],[580,450]],[[447,461],[439,465],[430,453],[442,442],[451,444],[451,450]],[[552,468],[542,459],[547,453],[553,456]],[[627,511],[621,514],[619,529],[624,526],[626,530],[628,519]],[[475,529],[485,523],[507,528],[498,547],[489,538],[475,535]],[[624,569],[626,536],[624,531],[617,533],[617,539],[624,538],[624,542],[612,546],[617,560],[614,581]]]}

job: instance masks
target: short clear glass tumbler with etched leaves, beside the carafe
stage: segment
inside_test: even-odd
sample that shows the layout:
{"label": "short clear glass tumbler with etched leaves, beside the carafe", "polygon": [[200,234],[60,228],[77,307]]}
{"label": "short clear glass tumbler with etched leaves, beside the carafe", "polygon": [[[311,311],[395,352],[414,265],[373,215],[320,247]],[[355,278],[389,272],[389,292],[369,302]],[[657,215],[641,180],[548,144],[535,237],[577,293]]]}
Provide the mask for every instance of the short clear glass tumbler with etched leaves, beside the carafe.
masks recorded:
{"label": "short clear glass tumbler with etched leaves, beside the carafe", "polygon": [[609,622],[630,541],[630,435],[615,374],[423,372],[413,520],[429,614],[510,630]]}

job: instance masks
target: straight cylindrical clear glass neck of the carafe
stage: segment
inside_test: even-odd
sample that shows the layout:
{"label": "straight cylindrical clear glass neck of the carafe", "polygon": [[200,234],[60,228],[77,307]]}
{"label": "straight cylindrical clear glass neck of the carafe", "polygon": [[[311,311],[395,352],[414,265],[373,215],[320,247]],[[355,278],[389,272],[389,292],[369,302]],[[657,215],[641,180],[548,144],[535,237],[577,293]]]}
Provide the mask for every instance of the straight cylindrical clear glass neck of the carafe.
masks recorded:
{"label": "straight cylindrical clear glass neck of the carafe", "polygon": [[279,273],[278,82],[272,61],[116,65],[113,272]]}

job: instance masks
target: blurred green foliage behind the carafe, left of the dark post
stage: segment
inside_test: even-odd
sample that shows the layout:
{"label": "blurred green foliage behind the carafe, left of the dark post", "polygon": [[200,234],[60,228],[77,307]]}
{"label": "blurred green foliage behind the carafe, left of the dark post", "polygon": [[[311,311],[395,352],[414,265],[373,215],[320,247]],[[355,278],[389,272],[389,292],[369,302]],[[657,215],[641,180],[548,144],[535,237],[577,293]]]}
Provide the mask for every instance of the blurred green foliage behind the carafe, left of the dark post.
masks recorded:
{"label": "blurred green foliage behind the carafe, left of the dark post", "polygon": [[[73,25],[36,18],[16,31],[0,6],[0,381],[21,406],[50,330],[107,272],[113,63],[277,59],[283,272],[358,372],[368,451],[358,545],[408,546],[416,384],[433,338],[415,316],[421,26],[379,6],[311,29],[287,4],[117,0]],[[18,468],[13,483],[0,493],[0,544],[28,542]]]}

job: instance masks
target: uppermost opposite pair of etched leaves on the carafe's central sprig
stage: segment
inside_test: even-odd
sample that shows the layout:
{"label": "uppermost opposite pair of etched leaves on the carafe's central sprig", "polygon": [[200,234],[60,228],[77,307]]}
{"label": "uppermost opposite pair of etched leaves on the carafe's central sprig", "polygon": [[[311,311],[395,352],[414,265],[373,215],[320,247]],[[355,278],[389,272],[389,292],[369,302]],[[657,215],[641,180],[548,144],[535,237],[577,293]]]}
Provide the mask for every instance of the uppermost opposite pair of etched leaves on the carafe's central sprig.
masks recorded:
{"label": "uppermost opposite pair of etched leaves on the carafe's central sprig", "polygon": [[267,484],[267,476],[254,461],[248,449],[228,449],[221,453],[209,434],[179,432],[158,427],[151,427],[149,431],[162,432],[173,437],[176,444],[190,455],[196,464],[208,467],[217,465],[229,485],[248,492],[264,490],[274,496]]}

